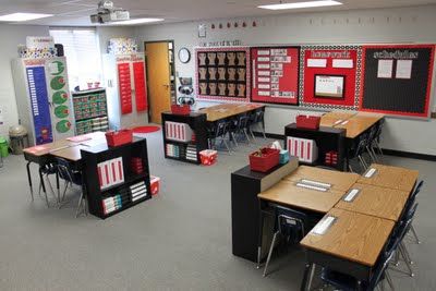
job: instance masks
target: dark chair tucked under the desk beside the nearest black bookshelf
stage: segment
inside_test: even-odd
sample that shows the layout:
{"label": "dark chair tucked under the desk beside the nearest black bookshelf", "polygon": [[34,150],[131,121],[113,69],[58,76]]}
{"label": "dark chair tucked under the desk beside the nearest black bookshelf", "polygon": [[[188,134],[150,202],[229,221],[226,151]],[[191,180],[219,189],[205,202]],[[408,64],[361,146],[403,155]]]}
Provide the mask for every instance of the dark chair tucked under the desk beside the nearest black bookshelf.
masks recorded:
{"label": "dark chair tucked under the desk beside the nearest black bookshelf", "polygon": [[275,216],[275,233],[271,245],[269,246],[268,257],[266,259],[264,269],[264,277],[267,276],[268,265],[269,260],[271,259],[277,237],[280,234],[282,238],[284,238],[287,244],[296,244],[304,238],[304,235],[306,235],[306,231],[310,230],[307,216],[303,213],[276,205]]}

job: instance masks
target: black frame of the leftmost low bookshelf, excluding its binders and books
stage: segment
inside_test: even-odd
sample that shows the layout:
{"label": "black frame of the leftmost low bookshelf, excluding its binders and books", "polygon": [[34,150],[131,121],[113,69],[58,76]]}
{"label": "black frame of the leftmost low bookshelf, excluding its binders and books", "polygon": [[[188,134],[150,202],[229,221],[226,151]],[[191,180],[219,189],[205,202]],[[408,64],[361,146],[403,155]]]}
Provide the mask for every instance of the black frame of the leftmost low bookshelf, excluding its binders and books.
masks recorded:
{"label": "black frame of the leftmost low bookshelf, excluding its binders and books", "polygon": [[[106,149],[82,149],[81,150],[83,160],[83,179],[84,179],[84,191],[88,201],[89,213],[101,219],[106,219],[120,211],[129,209],[132,206],[137,205],[141,202],[152,198],[150,191],[150,179],[149,179],[149,167],[148,167],[148,155],[147,155],[147,141],[145,138],[134,141],[130,144],[124,144],[117,147],[109,147]],[[98,170],[97,165],[107,160],[122,157],[122,167],[124,172],[124,181],[122,183],[111,185],[106,189],[100,189],[98,183]],[[143,173],[135,173],[131,170],[130,161],[131,158],[141,158],[143,166]],[[130,186],[138,182],[144,182],[147,191],[146,196],[132,201],[130,193]],[[104,213],[102,199],[121,194],[120,191],[126,191],[129,195],[126,201],[122,204],[121,208]]]}

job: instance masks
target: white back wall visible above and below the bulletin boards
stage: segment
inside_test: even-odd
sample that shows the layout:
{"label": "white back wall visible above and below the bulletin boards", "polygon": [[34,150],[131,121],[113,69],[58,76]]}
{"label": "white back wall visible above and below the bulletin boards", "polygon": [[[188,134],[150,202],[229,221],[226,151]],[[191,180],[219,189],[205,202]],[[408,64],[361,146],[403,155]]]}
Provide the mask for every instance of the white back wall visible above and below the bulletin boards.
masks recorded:
{"label": "white back wall visible above and below the bulletin boards", "polygon": [[[264,44],[362,44],[362,43],[436,43],[436,5],[400,9],[356,10],[326,13],[286,14],[255,20],[257,27],[207,29],[206,38],[197,37],[197,22],[142,26],[136,36],[142,41],[173,39],[175,51],[203,41],[240,39],[243,45]],[[220,20],[206,22],[222,23]],[[208,25],[210,27],[210,25]],[[194,60],[187,64],[175,61],[181,76],[194,77]],[[436,111],[435,98],[432,110]],[[294,120],[299,109],[268,106],[266,131],[283,134],[283,126]],[[301,111],[301,109],[300,109]],[[383,147],[436,155],[436,120],[404,120],[389,118]]]}

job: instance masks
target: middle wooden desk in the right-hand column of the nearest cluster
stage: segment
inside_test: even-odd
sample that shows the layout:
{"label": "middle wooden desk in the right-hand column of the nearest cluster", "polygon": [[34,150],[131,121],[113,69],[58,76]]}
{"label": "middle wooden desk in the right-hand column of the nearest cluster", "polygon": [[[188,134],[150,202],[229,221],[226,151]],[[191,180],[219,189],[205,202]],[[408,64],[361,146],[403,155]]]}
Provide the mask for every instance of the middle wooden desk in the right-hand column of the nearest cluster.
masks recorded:
{"label": "middle wooden desk in the right-hand column of the nearest cluster", "polygon": [[410,192],[355,183],[351,189],[360,192],[350,202],[344,195],[335,208],[398,221]]}

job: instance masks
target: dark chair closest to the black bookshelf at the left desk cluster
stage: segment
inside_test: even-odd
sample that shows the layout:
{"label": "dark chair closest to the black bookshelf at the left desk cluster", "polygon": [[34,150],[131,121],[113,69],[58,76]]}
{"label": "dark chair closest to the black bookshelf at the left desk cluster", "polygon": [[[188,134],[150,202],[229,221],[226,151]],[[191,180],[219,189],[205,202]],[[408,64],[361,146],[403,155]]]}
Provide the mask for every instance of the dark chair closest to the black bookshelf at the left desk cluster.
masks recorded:
{"label": "dark chair closest to the black bookshelf at the left desk cluster", "polygon": [[[82,187],[83,185],[83,179],[82,179],[82,172],[78,171],[73,171],[71,168],[71,165],[68,160],[62,159],[62,158],[56,158],[57,160],[57,170],[59,178],[65,181],[65,186],[63,189],[63,194],[62,198],[59,197],[60,203],[64,201],[65,198],[65,193],[68,190],[68,186],[70,185],[71,187],[74,185],[78,185]],[[97,181],[96,181],[97,183]],[[61,205],[59,205],[59,208]],[[84,213],[87,215],[87,206],[86,206],[86,197],[83,191],[81,191],[81,197],[78,199],[78,205],[77,209],[75,211],[75,217],[78,217],[81,213]]]}

